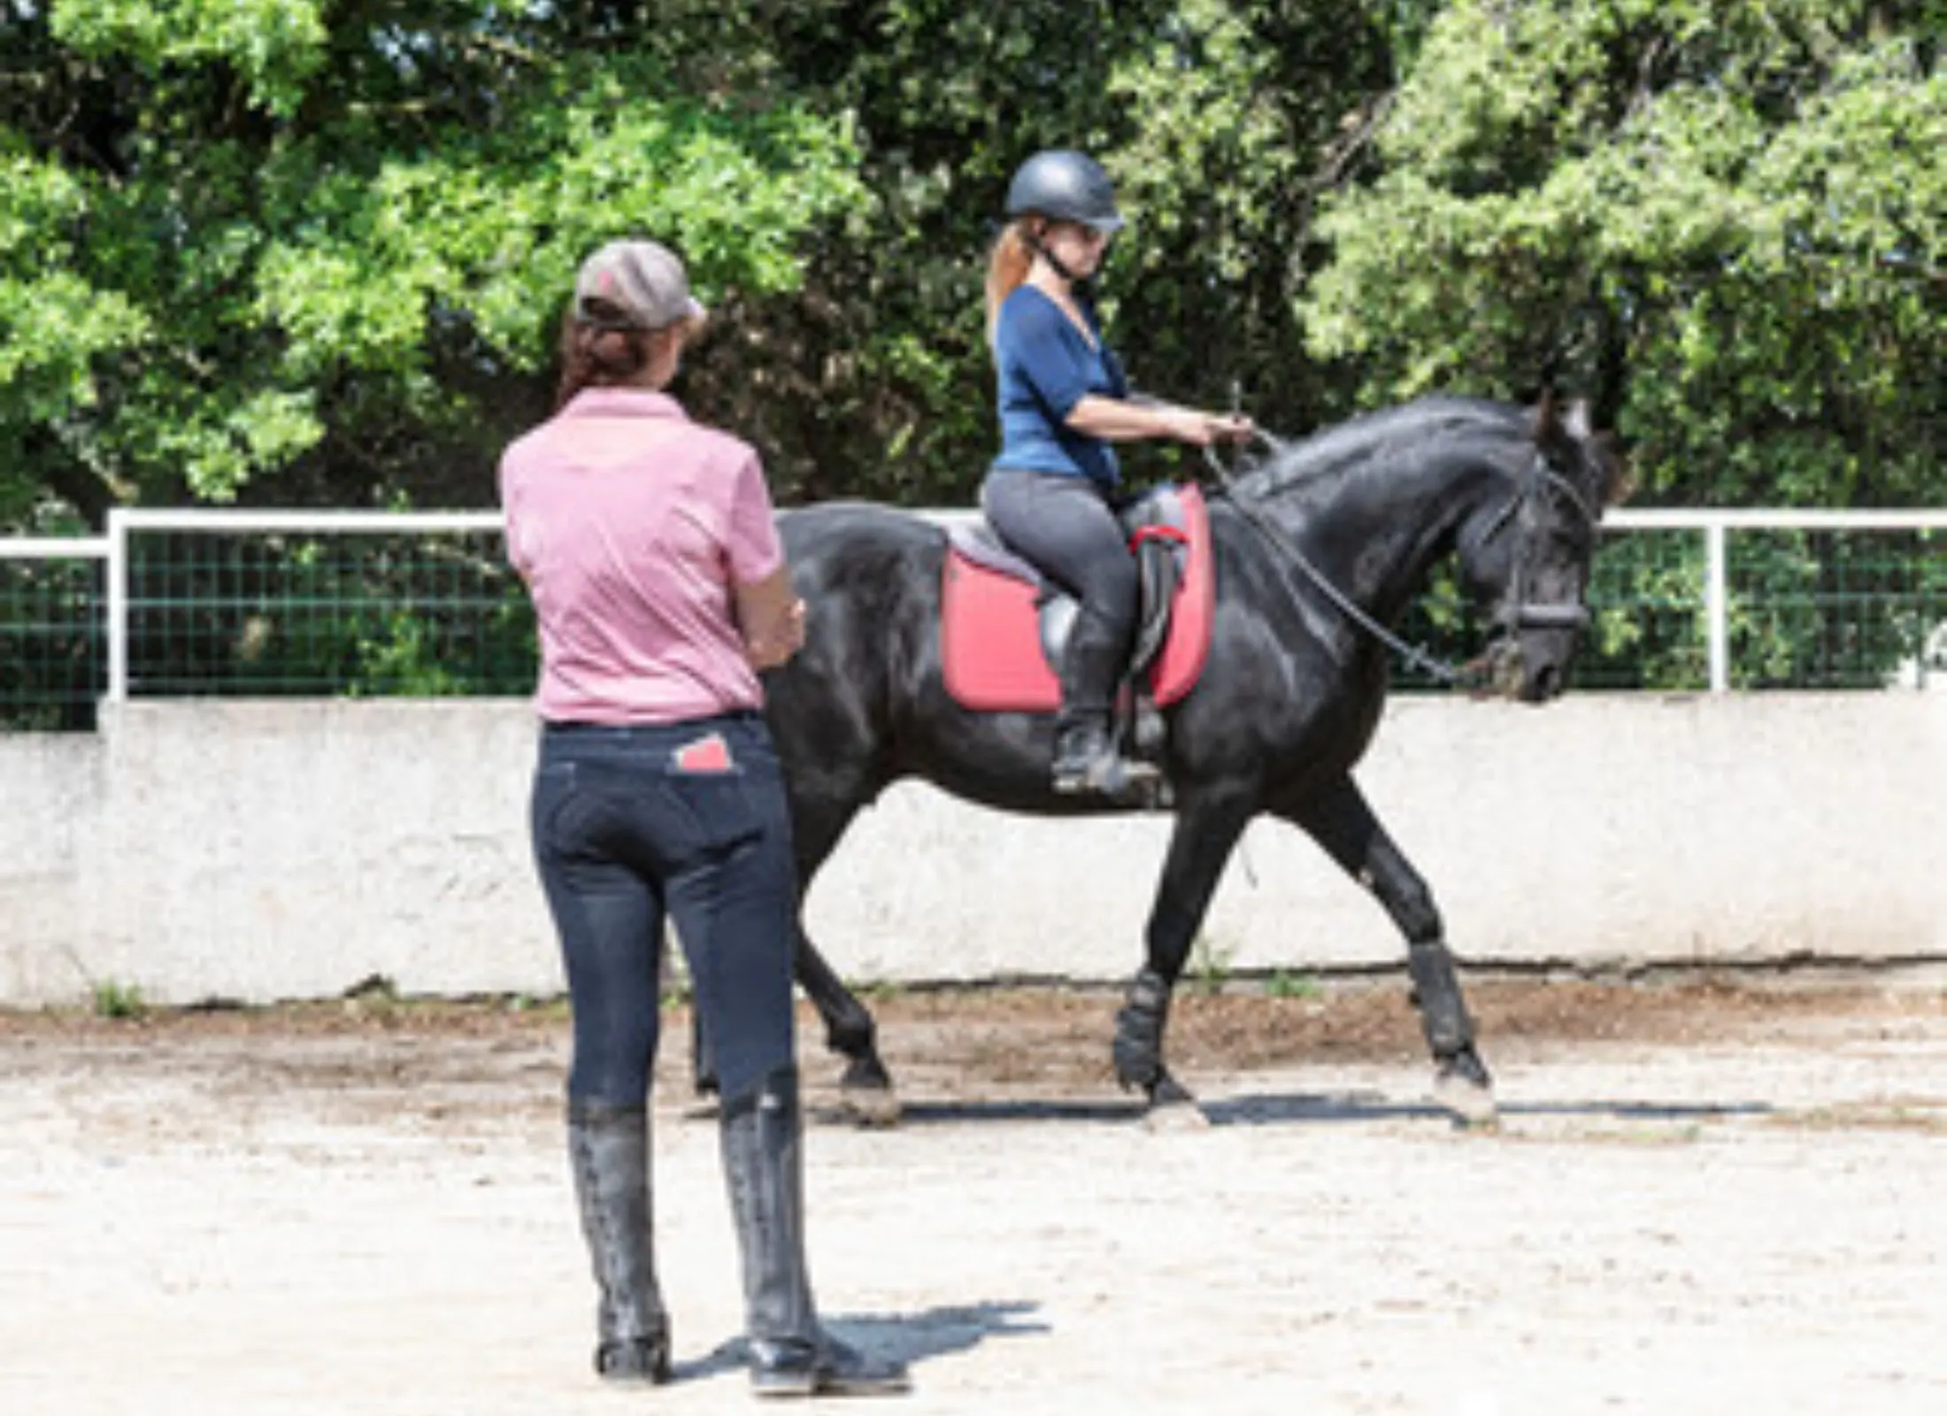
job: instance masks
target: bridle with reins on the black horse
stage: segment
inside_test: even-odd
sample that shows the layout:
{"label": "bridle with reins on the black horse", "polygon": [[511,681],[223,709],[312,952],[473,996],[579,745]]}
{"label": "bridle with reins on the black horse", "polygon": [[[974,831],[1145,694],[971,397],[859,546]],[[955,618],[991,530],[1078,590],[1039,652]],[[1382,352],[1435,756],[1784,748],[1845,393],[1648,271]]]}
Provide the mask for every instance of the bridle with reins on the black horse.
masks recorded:
{"label": "bridle with reins on the black horse", "polygon": [[[1277,452],[1285,446],[1283,438],[1277,438],[1266,430],[1258,430],[1258,436]],[[1534,460],[1528,464],[1526,473],[1521,477],[1521,485],[1507,499],[1507,504],[1493,514],[1488,522],[1488,530],[1482,540],[1489,541],[1499,536],[1507,526],[1513,526],[1519,534],[1513,549],[1513,567],[1507,582],[1507,590],[1501,594],[1499,604],[1489,615],[1489,623],[1499,631],[1499,637],[1488,647],[1484,654],[1468,660],[1466,664],[1454,664],[1449,658],[1433,654],[1421,645],[1410,645],[1396,633],[1378,623],[1373,615],[1359,608],[1351,596],[1340,590],[1332,580],[1312,565],[1310,557],[1299,547],[1291,534],[1271,518],[1264,506],[1266,499],[1258,493],[1248,491],[1223,464],[1209,446],[1203,448],[1203,460],[1215,469],[1217,481],[1223,485],[1236,506],[1244,524],[1258,532],[1273,549],[1279,551],[1279,575],[1283,575],[1287,588],[1291,588],[1289,565],[1297,565],[1304,573],[1304,578],[1312,582],[1326,600],[1330,600],[1340,614],[1351,619],[1359,629],[1369,633],[1388,651],[1398,654],[1408,668],[1415,668],[1421,674],[1452,686],[1470,688],[1482,684],[1491,676],[1491,666],[1503,660],[1515,647],[1515,637],[1523,629],[1581,629],[1589,623],[1589,610],[1573,602],[1540,602],[1528,598],[1528,582],[1532,580],[1534,545],[1540,540],[1536,530],[1538,508],[1548,497],[1563,497],[1569,506],[1575,508],[1587,534],[1593,538],[1598,522],[1597,510],[1589,504],[1589,499],[1575,487],[1567,477],[1563,477],[1548,462],[1546,454],[1536,448]]]}

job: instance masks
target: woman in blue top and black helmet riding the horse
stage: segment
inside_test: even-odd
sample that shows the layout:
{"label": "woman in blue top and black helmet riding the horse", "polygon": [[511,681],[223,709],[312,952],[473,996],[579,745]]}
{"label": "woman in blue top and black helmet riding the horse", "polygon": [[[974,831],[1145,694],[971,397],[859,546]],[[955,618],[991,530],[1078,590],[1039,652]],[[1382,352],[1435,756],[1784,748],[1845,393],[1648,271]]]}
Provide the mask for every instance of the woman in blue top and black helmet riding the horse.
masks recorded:
{"label": "woman in blue top and black helmet riding the horse", "polygon": [[1081,602],[1061,658],[1053,787],[1121,797],[1157,771],[1125,760],[1110,734],[1139,612],[1135,557],[1112,506],[1121,471],[1110,444],[1209,446],[1248,438],[1252,425],[1129,395],[1083,288],[1123,224],[1094,160],[1034,154],[1007,189],[1007,216],[987,265],[1001,452],[981,506],[1010,549]]}

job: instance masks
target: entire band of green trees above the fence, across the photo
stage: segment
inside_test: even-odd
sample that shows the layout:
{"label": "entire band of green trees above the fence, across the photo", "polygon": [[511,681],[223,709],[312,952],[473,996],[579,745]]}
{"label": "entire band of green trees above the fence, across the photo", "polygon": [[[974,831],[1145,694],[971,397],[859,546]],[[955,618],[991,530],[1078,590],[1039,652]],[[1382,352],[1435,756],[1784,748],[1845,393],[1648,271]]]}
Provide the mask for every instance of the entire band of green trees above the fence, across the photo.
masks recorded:
{"label": "entire band of green trees above the fence, across the photo", "polygon": [[[652,232],[787,501],[966,501],[987,245],[1083,146],[1143,388],[1593,391],[1645,499],[1931,503],[1941,0],[0,0],[0,526],[483,504]],[[1180,464],[1131,458],[1137,475]]]}

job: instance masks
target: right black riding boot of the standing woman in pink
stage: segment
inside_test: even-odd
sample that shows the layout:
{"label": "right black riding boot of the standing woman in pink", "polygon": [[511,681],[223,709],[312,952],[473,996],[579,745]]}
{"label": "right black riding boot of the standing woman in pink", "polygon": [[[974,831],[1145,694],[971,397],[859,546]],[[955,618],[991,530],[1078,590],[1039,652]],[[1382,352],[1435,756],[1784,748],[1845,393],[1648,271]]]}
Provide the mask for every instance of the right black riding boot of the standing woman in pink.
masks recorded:
{"label": "right black riding boot of the standing woman in pink", "polygon": [[907,1391],[905,1367],[874,1361],[818,1324],[804,1264],[804,1149],[798,1069],[726,1100],[720,1120],[730,1215],[744,1254],[750,1385],[759,1397],[874,1397]]}

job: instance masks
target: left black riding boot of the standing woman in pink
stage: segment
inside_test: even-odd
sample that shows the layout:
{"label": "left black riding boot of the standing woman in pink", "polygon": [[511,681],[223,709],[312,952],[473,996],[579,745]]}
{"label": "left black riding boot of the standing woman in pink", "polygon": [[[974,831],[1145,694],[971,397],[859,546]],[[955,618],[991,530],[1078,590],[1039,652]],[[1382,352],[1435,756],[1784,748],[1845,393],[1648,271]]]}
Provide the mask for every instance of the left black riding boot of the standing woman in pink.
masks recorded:
{"label": "left black riding boot of the standing woman in pink", "polygon": [[670,1315],[656,1287],[648,1110],[569,1102],[569,1161],[602,1305],[596,1371],[607,1381],[670,1379]]}

